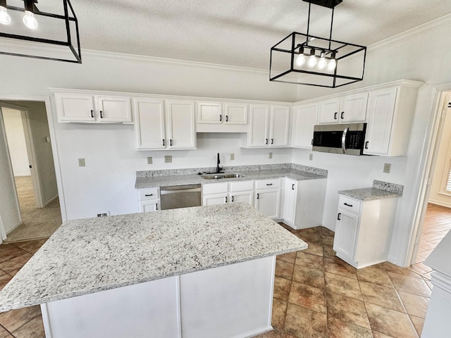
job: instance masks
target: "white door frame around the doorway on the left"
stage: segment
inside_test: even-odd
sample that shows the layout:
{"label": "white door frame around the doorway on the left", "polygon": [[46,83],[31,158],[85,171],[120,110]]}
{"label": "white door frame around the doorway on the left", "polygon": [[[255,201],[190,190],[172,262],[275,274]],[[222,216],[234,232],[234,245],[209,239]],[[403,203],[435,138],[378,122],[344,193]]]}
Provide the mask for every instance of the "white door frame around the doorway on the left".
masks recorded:
{"label": "white door frame around the doorway on the left", "polygon": [[54,103],[52,103],[50,95],[14,95],[14,94],[0,94],[0,101],[39,101],[44,102],[45,109],[47,113],[47,122],[49,123],[49,132],[51,139],[51,151],[53,153],[54,165],[55,165],[55,175],[56,175],[56,186],[58,188],[58,198],[60,201],[61,208],[61,218],[63,222],[67,220],[66,211],[66,199],[63,190],[63,178],[61,175],[61,163],[59,161],[58,154],[58,142],[56,140],[55,123],[53,112],[56,111],[54,108]]}

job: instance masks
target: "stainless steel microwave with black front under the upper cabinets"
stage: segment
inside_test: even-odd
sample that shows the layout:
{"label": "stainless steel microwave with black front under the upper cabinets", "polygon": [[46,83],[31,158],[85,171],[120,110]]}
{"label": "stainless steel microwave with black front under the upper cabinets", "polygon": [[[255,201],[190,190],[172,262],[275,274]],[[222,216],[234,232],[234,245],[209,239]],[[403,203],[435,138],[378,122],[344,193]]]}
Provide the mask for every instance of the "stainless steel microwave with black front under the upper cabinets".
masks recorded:
{"label": "stainless steel microwave with black front under the upper cabinets", "polygon": [[312,150],[333,154],[363,155],[366,123],[315,125]]}

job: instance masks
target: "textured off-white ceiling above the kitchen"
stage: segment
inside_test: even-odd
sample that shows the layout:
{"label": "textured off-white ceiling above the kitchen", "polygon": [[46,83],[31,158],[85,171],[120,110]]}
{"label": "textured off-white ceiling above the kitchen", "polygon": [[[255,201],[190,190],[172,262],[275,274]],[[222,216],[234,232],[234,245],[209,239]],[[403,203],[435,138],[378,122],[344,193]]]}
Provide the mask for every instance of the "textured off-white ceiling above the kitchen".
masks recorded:
{"label": "textured off-white ceiling above the kitchen", "polygon": [[[56,0],[39,0],[41,11]],[[71,0],[82,49],[268,68],[271,46],[307,31],[302,0]],[[60,5],[61,6],[61,5]],[[311,6],[311,35],[332,11]],[[333,39],[369,46],[451,13],[451,0],[343,0]]]}

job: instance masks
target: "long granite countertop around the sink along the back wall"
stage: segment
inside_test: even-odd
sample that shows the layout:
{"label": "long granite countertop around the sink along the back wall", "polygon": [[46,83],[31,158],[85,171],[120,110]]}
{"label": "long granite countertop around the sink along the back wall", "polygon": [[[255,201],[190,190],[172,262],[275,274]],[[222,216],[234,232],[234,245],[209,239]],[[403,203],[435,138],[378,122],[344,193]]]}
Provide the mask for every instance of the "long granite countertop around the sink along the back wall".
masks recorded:
{"label": "long granite countertop around the sink along the back wall", "polygon": [[[230,170],[226,173],[231,173]],[[219,182],[233,182],[233,181],[249,181],[249,180],[266,180],[269,178],[288,177],[292,180],[317,180],[327,178],[326,175],[319,175],[316,173],[309,173],[303,170],[296,169],[274,169],[274,170],[249,170],[249,171],[233,171],[233,173],[240,173],[243,177],[220,178],[217,180],[205,180],[201,175],[168,175],[168,176],[152,176],[152,177],[137,177],[135,182],[136,189],[152,188],[152,187],[171,187],[174,185],[184,184],[209,184]]]}

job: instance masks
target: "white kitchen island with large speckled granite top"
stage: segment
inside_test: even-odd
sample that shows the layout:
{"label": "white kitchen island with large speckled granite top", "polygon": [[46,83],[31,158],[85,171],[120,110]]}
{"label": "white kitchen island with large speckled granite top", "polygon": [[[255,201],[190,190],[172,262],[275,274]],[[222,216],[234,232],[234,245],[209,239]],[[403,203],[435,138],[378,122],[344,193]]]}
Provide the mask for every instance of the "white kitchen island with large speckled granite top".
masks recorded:
{"label": "white kitchen island with large speckled granite top", "polygon": [[276,255],[307,244],[247,204],[70,220],[0,292],[47,338],[249,337],[271,330]]}

